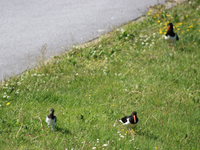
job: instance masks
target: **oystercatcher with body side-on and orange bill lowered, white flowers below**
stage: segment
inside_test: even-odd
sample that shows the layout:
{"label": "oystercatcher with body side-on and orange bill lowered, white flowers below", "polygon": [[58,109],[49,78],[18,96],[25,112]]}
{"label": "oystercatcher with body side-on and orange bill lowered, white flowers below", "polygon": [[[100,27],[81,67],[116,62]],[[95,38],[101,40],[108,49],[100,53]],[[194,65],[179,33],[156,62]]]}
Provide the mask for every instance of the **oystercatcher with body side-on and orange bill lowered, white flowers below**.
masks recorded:
{"label": "oystercatcher with body side-on and orange bill lowered, white flowers below", "polygon": [[[133,111],[130,116],[125,116],[117,121],[121,122],[124,126],[130,129],[137,125],[139,119],[137,117],[137,112]],[[116,123],[113,126],[116,126]]]}

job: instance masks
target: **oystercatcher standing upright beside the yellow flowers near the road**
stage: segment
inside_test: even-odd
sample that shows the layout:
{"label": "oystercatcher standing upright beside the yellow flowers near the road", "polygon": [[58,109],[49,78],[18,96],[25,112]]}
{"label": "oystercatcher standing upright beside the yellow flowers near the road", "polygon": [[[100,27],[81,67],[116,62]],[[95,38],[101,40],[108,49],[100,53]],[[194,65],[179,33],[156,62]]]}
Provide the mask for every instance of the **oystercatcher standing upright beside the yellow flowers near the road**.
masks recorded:
{"label": "oystercatcher standing upright beside the yellow flowers near the road", "polygon": [[[167,33],[165,34],[165,40],[169,44],[173,43],[172,52],[174,52],[174,45],[175,45],[176,41],[179,40],[179,38],[178,38],[178,35],[176,33],[174,33],[173,24],[171,22],[168,24]],[[171,45],[170,45],[170,47],[171,47]]]}

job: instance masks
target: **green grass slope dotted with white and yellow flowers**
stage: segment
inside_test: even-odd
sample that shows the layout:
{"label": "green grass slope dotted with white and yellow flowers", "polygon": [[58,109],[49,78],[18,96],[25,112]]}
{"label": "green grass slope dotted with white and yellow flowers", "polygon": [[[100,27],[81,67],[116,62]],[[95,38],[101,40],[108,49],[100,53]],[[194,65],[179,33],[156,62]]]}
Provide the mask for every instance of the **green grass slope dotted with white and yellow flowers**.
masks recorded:
{"label": "green grass slope dotted with white and yellow flowers", "polygon": [[[0,149],[199,149],[199,18],[199,0],[158,5],[141,22],[6,80]],[[175,54],[163,38],[167,22],[180,38]],[[52,107],[53,132],[45,123]],[[133,110],[134,131],[113,127]]]}

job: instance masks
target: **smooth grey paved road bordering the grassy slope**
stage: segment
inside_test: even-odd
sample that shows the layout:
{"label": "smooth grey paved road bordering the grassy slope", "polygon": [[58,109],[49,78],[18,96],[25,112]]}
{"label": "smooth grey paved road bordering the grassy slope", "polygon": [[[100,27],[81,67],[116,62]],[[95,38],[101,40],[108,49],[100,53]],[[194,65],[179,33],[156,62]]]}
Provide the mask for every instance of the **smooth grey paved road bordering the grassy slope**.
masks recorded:
{"label": "smooth grey paved road bordering the grassy slope", "polygon": [[0,80],[98,37],[165,0],[1,0]]}

